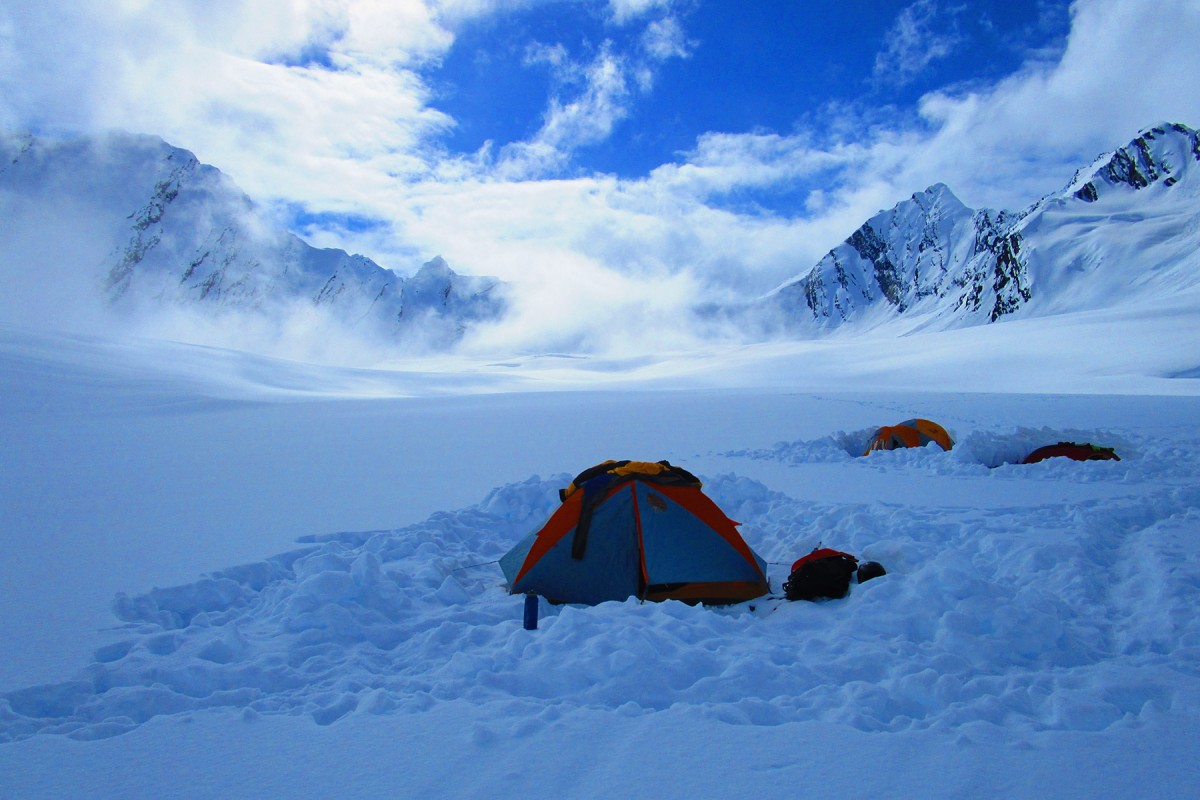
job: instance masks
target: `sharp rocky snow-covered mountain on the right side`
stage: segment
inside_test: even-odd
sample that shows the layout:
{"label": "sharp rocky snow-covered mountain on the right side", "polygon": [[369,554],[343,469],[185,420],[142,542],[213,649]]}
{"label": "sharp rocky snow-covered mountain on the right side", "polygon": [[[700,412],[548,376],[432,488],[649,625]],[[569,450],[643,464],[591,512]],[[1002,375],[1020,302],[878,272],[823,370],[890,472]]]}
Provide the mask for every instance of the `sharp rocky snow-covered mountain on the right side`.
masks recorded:
{"label": "sharp rocky snow-covered mountain on the right side", "polygon": [[1198,161],[1198,132],[1164,124],[1024,211],[972,210],[935,184],[757,305],[802,330],[898,319],[959,327],[1195,288]]}

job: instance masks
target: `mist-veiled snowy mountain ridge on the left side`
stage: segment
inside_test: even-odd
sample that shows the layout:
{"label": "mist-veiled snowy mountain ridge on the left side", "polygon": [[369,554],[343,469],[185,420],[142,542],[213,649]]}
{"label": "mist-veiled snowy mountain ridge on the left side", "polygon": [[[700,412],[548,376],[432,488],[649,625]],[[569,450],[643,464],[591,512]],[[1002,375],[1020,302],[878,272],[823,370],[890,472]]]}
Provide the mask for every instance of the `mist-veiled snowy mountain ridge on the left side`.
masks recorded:
{"label": "mist-veiled snowy mountain ridge on the left side", "polygon": [[504,308],[497,279],[457,275],[440,257],[406,279],[365,255],[312,247],[218,169],[154,137],[0,137],[0,213],[11,221],[0,255],[36,269],[71,240],[71,258],[94,270],[116,309],[305,308],[449,343]]}

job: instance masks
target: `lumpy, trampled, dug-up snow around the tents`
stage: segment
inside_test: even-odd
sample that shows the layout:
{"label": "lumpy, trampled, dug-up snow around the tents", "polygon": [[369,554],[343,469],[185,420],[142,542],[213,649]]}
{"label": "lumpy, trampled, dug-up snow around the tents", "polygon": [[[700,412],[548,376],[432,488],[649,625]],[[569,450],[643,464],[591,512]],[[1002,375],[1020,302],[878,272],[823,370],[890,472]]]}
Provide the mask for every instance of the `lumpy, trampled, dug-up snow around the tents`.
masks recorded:
{"label": "lumpy, trampled, dug-up snow around the tents", "polygon": [[822,503],[734,475],[707,482],[776,565],[776,591],[786,564],[818,542],[887,565],[844,601],[544,603],[541,630],[524,631],[494,561],[552,511],[565,474],[397,530],[308,537],[191,584],[120,594],[120,636],[74,680],[0,694],[0,736],[95,739],[212,708],[330,724],[449,700],[559,714],[694,706],[733,724],[889,733],[1105,730],[1195,709],[1200,440],[1183,452],[1139,437],[1120,463],[985,463],[1067,434],[989,432],[949,453],[869,458],[793,443],[757,457],[803,464],[824,450],[817,459],[847,476],[931,471],[997,494],[1079,481],[1146,491],[984,510]]}

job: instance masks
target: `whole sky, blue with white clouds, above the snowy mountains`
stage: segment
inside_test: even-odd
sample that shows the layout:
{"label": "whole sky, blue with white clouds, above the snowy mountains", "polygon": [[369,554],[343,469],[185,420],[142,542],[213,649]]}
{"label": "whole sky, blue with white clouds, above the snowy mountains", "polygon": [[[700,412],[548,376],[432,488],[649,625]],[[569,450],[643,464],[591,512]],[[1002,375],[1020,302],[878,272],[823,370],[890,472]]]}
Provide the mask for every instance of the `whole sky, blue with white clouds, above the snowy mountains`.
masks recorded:
{"label": "whole sky, blue with white clouds, above the snowy mountains", "polygon": [[[526,330],[804,273],[935,182],[1020,209],[1200,125],[1195,0],[12,0],[0,127],[154,133]],[[598,308],[604,308],[602,313]]]}

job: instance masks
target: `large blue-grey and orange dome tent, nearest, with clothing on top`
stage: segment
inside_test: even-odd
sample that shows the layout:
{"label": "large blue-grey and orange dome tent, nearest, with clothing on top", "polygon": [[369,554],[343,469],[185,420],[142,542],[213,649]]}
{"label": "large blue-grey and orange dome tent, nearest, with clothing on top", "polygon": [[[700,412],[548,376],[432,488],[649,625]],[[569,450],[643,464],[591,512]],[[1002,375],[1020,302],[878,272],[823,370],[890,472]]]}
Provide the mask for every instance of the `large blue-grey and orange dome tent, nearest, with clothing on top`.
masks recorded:
{"label": "large blue-grey and orange dome tent, nearest, with clothing on top", "polygon": [[668,462],[610,461],[559,492],[562,505],[504,558],[512,594],[557,603],[628,597],[736,603],[767,594],[767,564]]}

